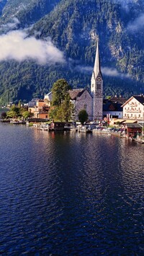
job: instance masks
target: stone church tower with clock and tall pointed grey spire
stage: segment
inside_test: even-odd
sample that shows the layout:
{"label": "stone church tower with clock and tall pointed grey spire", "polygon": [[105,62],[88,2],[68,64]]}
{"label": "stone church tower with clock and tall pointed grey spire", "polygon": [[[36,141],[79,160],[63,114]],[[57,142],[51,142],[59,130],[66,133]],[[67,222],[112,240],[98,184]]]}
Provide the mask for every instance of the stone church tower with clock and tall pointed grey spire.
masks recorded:
{"label": "stone church tower with clock and tall pointed grey spire", "polygon": [[93,120],[102,120],[103,109],[103,79],[99,58],[99,41],[96,45],[94,71],[91,76],[91,96],[93,97]]}

